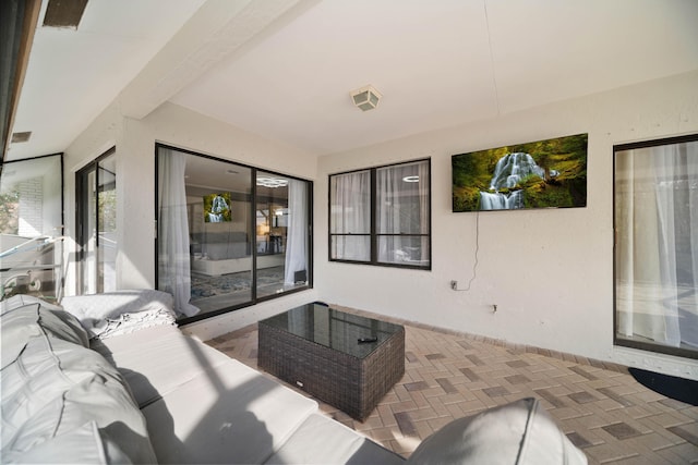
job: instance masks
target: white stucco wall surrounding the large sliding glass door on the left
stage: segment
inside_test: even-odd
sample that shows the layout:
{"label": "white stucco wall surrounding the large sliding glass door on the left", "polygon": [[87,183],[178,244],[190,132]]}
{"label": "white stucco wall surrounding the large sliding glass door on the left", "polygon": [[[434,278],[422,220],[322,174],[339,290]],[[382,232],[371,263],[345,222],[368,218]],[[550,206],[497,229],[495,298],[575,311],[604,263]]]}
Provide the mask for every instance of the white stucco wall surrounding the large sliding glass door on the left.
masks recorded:
{"label": "white stucco wall surrounding the large sliding glass door on the left", "polygon": [[[143,120],[123,118],[112,105],[65,151],[67,225],[74,237],[75,172],[105,150],[117,146],[117,287],[155,287],[155,144],[239,161],[261,169],[313,180],[316,157],[183,107],[165,103]],[[68,256],[74,242],[67,244]],[[74,260],[69,258],[67,295],[75,293]],[[296,293],[254,307],[186,327],[201,339],[242,328],[266,316],[317,298],[315,290]]]}

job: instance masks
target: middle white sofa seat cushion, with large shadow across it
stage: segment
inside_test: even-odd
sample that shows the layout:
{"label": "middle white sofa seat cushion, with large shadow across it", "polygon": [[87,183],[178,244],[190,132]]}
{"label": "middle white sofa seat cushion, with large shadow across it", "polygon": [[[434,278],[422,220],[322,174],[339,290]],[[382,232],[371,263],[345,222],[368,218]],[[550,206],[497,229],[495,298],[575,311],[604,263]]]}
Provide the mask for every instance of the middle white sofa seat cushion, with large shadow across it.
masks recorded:
{"label": "middle white sofa seat cushion, with large shadow across it", "polygon": [[160,463],[263,463],[317,403],[230,359],[143,408]]}

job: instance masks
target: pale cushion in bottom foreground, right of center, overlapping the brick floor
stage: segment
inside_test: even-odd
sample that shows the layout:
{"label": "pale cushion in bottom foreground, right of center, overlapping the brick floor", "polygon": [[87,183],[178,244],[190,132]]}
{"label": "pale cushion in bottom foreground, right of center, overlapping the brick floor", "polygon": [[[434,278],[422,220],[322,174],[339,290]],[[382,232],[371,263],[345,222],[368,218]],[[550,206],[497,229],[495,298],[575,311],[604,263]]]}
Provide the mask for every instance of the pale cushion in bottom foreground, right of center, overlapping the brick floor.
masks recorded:
{"label": "pale cushion in bottom foreground, right of center, overlapping the brick floor", "polygon": [[426,438],[408,463],[586,464],[587,457],[528,397],[454,420]]}

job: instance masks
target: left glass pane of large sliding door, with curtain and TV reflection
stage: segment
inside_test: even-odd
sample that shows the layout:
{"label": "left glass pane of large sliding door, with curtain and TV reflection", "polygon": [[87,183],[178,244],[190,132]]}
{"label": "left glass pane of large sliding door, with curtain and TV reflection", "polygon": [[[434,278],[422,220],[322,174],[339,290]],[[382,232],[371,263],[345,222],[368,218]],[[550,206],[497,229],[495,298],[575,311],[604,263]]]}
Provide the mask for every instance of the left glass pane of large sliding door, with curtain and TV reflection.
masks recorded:
{"label": "left glass pane of large sliding door, with curtain and TV reflection", "polygon": [[158,149],[158,289],[181,318],[252,301],[252,170]]}

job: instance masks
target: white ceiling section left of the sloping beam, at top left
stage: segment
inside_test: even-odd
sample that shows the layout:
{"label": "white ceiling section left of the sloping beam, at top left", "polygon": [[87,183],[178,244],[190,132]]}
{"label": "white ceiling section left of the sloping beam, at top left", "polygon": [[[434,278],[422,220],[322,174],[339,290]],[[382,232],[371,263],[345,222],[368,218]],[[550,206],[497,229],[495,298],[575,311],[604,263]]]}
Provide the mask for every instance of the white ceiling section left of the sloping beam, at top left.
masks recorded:
{"label": "white ceiling section left of the sloping beam, at top left", "polygon": [[8,159],[63,151],[204,3],[89,0],[77,30],[43,27],[41,3]]}

